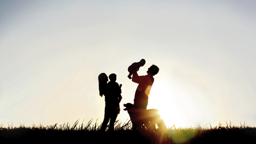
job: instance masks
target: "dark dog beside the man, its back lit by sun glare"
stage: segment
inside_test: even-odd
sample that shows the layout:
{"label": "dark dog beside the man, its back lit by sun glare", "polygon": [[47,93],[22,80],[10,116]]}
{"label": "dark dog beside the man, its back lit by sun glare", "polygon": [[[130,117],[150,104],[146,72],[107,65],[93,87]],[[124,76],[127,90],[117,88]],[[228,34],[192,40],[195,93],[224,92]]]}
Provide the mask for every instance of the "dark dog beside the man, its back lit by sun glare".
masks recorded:
{"label": "dark dog beside the man, its back lit by sun glare", "polygon": [[137,129],[156,129],[156,124],[161,130],[166,130],[166,125],[158,113],[157,109],[140,110],[134,108],[131,103],[124,104],[125,111],[128,111],[132,122],[132,130]]}

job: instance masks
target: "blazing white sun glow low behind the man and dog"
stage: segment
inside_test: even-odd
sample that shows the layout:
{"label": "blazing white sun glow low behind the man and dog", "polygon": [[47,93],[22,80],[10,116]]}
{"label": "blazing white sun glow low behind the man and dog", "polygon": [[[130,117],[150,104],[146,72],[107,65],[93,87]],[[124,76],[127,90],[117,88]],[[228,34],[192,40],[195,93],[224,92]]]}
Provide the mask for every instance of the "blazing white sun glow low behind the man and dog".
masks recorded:
{"label": "blazing white sun glow low behind the man and dog", "polygon": [[167,127],[195,125],[201,116],[193,95],[174,86],[172,79],[157,77],[149,95],[148,109],[158,109]]}

